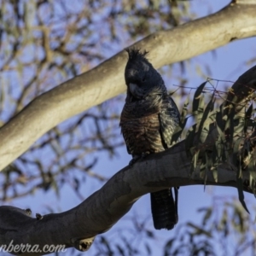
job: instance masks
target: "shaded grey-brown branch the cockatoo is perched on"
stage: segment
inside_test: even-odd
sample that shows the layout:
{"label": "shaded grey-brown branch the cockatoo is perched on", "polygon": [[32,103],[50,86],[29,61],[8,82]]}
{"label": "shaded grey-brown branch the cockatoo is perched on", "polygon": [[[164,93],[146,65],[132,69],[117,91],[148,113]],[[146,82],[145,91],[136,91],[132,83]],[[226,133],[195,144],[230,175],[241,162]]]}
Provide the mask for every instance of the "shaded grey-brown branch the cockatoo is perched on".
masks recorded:
{"label": "shaded grey-brown branch the cockatoo is perched on", "polygon": [[[9,245],[13,241],[13,244],[38,244],[40,249],[44,245],[61,244],[75,247],[79,241],[86,241],[84,239],[110,229],[142,195],[173,186],[203,184],[199,173],[195,172],[190,177],[190,164],[185,143],[181,142],[165,152],[148,156],[132,167],[125,167],[102,189],[70,211],[45,215],[36,220],[15,207],[0,207],[1,244]],[[209,173],[207,184],[236,187],[236,172],[220,167],[218,183]]]}

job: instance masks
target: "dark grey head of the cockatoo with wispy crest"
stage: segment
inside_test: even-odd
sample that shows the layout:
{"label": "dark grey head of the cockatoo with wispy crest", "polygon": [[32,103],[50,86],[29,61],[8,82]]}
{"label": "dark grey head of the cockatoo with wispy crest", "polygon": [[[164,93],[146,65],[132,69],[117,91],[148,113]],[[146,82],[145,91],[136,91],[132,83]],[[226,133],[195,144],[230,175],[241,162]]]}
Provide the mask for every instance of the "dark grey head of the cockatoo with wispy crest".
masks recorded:
{"label": "dark grey head of the cockatoo with wispy crest", "polygon": [[139,100],[146,96],[166,93],[166,86],[152,64],[146,58],[148,52],[139,49],[126,49],[129,55],[125,67],[125,83],[127,92]]}

